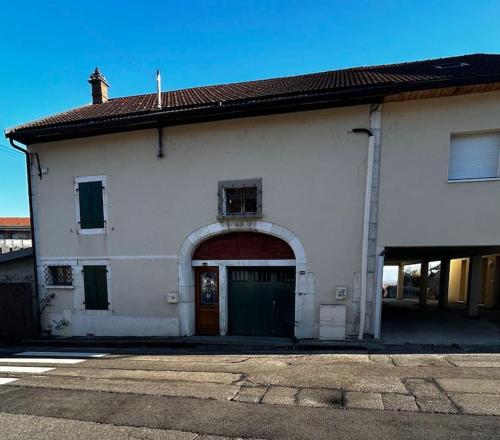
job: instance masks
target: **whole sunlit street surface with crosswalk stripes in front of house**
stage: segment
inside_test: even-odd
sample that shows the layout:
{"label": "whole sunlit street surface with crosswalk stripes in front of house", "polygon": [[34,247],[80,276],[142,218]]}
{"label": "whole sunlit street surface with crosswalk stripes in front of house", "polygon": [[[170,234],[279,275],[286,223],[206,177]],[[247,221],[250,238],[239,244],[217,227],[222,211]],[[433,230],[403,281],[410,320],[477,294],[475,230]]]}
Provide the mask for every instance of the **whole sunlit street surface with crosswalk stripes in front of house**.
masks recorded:
{"label": "whole sunlit street surface with crosswalk stripes in front of house", "polygon": [[0,439],[500,437],[497,354],[25,350],[0,353]]}

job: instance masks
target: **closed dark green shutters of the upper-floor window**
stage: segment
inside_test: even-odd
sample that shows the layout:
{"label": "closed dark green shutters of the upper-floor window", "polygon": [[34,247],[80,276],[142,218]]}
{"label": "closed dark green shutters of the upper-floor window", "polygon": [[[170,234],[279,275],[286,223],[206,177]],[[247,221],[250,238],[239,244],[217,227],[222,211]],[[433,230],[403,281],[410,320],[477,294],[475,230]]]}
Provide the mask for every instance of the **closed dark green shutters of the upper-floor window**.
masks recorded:
{"label": "closed dark green shutters of the upper-floor window", "polygon": [[80,229],[104,228],[102,181],[78,183]]}

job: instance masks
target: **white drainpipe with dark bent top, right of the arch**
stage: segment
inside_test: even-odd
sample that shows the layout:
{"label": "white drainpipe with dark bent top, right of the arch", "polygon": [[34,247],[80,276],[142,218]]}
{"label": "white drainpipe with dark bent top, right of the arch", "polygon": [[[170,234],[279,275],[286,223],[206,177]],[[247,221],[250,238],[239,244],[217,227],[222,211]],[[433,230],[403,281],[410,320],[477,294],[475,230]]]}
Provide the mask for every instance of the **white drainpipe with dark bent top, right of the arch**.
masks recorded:
{"label": "white drainpipe with dark bent top, right of the arch", "polygon": [[353,133],[364,133],[368,136],[368,160],[366,164],[365,207],[363,215],[363,244],[361,248],[361,298],[359,310],[358,339],[363,339],[366,321],[366,287],[368,277],[368,230],[370,226],[370,203],[372,198],[373,161],[375,155],[375,136],[367,128],[354,128]]}

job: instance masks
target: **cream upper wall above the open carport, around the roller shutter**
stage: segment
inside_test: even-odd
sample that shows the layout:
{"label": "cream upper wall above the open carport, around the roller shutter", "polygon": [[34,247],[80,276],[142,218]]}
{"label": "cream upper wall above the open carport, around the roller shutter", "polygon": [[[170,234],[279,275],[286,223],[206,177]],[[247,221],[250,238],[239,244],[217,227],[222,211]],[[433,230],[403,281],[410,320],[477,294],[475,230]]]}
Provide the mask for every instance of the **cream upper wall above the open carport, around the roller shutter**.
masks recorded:
{"label": "cream upper wall above the open carport, around the roller shutter", "polygon": [[500,244],[500,181],[448,183],[450,134],[499,114],[500,92],[384,104],[379,246]]}

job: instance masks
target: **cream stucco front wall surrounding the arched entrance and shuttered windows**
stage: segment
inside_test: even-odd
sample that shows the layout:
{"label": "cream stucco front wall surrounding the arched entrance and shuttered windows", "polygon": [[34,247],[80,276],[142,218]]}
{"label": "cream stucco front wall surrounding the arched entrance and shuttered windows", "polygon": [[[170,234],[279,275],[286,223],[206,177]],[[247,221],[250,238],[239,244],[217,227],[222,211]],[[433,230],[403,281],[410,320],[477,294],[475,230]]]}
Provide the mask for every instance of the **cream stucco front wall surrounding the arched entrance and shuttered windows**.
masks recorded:
{"label": "cream stucco front wall surrounding the arched entrance and shuttered windows", "polygon": [[[183,243],[205,227],[236,228],[303,249],[296,290],[307,299],[296,302],[297,337],[317,337],[320,305],[336,303],[346,306],[346,336],[354,335],[367,138],[351,130],[369,117],[368,106],[355,106],[164,128],[163,159],[156,130],[34,146],[48,169],[33,178],[40,271],[63,262],[74,272],[46,320],[64,319],[62,331],[73,335],[192,334]],[[74,179],[94,175],[106,176],[106,233],[82,235]],[[246,178],[262,178],[262,218],[218,222],[218,182]],[[109,311],[82,305],[81,266],[91,261],[108,265]],[[335,299],[338,286],[347,287],[345,301]],[[171,292],[177,304],[167,302]]]}

